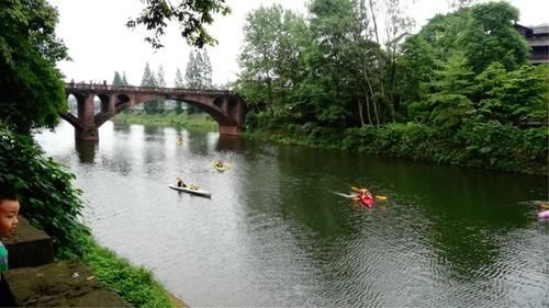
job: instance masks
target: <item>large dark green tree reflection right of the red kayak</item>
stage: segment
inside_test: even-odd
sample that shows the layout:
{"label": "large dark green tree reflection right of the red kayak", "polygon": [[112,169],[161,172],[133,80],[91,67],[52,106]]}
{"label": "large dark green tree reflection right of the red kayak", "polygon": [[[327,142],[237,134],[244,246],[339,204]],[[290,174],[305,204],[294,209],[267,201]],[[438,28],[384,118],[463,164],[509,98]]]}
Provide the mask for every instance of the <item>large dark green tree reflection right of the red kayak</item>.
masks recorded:
{"label": "large dark green tree reflection right of the red kayak", "polygon": [[[377,169],[370,171],[381,174]],[[401,196],[417,201],[422,235],[433,254],[462,278],[495,266],[503,249],[498,239],[527,226],[527,208],[518,203],[539,185],[534,176],[410,161],[382,163],[382,169]]]}

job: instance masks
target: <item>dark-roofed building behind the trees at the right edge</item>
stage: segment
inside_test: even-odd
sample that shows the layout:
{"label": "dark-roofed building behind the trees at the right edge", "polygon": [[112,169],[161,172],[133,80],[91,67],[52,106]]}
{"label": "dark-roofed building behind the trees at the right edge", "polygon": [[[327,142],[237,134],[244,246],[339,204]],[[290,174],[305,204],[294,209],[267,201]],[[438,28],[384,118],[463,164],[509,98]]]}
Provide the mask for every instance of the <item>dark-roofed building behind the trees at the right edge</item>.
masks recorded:
{"label": "dark-roofed building behind the trees at the right edge", "polygon": [[549,64],[549,24],[524,26],[516,23],[515,28],[525,36],[531,48],[529,61],[531,64]]}

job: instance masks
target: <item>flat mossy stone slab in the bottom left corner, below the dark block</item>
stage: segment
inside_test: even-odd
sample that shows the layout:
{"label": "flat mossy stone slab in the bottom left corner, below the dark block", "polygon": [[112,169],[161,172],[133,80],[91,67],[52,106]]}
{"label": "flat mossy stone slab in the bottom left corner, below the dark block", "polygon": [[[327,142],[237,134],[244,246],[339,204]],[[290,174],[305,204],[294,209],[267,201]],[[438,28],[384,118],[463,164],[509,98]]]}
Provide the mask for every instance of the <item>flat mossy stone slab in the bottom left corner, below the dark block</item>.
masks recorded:
{"label": "flat mossy stone slab in the bottom left corner, below the dark block", "polygon": [[4,277],[18,307],[131,307],[76,261],[10,270]]}

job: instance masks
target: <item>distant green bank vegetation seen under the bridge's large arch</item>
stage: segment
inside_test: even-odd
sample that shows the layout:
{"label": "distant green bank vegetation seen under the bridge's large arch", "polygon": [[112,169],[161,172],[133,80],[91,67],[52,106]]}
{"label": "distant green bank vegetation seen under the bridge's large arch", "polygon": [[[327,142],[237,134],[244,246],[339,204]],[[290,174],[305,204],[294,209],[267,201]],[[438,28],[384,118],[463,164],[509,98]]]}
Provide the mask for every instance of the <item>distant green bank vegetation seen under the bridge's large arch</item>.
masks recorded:
{"label": "distant green bank vegetation seen under the bridge's large arch", "polygon": [[217,130],[219,124],[206,113],[178,114],[176,111],[147,114],[142,111],[124,111],[116,114],[114,122],[128,124],[183,126],[193,130]]}

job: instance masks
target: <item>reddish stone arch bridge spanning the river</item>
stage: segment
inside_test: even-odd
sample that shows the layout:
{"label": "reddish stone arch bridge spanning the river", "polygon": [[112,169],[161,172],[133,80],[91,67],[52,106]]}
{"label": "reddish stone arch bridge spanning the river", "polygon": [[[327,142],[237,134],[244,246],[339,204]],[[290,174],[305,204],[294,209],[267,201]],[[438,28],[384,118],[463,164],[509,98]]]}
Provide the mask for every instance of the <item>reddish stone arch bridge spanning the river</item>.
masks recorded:
{"label": "reddish stone arch bridge spanning the river", "polygon": [[[206,112],[220,124],[220,133],[238,135],[246,116],[244,100],[227,90],[191,90],[172,88],[116,87],[108,84],[66,83],[67,96],[78,102],[78,116],[70,112],[61,117],[75,126],[80,140],[99,140],[98,128],[119,112],[154,100],[176,100]],[[98,96],[101,110],[93,114],[93,100]]]}

